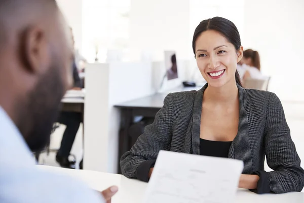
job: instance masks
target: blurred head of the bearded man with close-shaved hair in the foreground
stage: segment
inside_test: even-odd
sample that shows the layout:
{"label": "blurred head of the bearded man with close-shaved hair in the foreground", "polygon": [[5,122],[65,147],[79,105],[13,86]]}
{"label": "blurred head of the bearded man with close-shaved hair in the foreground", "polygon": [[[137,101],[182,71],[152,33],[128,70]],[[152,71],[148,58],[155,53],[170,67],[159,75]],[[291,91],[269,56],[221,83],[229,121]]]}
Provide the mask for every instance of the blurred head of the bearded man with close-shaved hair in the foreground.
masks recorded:
{"label": "blurred head of the bearded man with close-shaved hair in the foreground", "polygon": [[71,85],[70,31],[54,0],[0,0],[0,27],[0,106],[37,150]]}

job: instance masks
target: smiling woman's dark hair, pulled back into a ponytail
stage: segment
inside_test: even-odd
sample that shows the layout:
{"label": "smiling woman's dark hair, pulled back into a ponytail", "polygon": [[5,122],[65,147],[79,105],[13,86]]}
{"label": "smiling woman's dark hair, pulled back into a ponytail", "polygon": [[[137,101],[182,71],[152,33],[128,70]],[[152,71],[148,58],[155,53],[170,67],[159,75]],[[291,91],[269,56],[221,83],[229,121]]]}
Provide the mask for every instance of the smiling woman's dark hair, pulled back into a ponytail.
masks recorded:
{"label": "smiling woman's dark hair, pulled back into a ponytail", "polygon": [[[222,17],[214,17],[207,20],[203,20],[195,29],[192,41],[193,52],[195,55],[195,44],[197,38],[202,32],[206,30],[215,30],[221,33],[231,44],[234,45],[236,50],[241,47],[241,38],[238,28],[233,22]],[[240,75],[236,71],[236,82],[238,85],[242,86]]]}

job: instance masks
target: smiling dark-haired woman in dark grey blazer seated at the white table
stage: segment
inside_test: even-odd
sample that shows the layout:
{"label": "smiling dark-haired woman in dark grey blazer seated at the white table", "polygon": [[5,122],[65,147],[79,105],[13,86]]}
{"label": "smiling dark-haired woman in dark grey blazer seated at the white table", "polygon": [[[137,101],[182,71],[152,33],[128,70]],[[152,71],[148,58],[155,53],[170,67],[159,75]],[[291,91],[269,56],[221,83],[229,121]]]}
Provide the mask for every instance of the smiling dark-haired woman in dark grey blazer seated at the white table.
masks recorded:
{"label": "smiling dark-haired woman in dark grey blazer seated at the white table", "polygon": [[[202,21],[193,51],[207,84],[199,91],[167,95],[154,123],[122,156],[123,175],[147,182],[159,151],[168,150],[242,160],[240,188],[301,191],[304,170],[280,99],[241,86],[236,67],[243,46],[234,23],[221,17]],[[264,171],[265,155],[272,172]]]}

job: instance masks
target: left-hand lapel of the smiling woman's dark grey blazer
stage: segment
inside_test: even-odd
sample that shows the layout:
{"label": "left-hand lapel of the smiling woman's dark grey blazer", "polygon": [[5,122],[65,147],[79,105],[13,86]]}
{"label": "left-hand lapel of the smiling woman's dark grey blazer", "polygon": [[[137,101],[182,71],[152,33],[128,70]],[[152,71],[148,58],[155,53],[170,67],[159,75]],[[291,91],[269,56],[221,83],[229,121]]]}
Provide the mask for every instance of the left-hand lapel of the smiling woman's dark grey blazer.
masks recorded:
{"label": "left-hand lapel of the smiling woman's dark grey blazer", "polygon": [[194,100],[193,126],[192,126],[192,153],[198,155],[200,154],[200,126],[201,126],[203,92],[205,91],[207,86],[208,83],[198,91]]}

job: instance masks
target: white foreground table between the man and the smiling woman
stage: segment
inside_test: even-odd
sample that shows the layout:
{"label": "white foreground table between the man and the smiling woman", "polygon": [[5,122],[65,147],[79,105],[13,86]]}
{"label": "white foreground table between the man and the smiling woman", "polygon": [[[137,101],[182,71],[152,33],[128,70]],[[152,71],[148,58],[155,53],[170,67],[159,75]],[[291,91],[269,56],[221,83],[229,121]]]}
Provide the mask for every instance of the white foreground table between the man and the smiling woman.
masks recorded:
{"label": "white foreground table between the man and the smiling woman", "polygon": [[[102,191],[109,186],[117,185],[119,192],[112,198],[112,203],[142,203],[147,183],[127,179],[118,174],[70,170],[53,166],[37,166],[41,170],[63,173],[78,178],[87,183],[92,189]],[[304,193],[290,192],[285,194],[258,195],[246,189],[238,189],[236,203],[303,203]]]}

